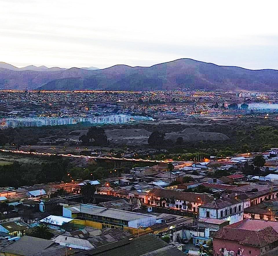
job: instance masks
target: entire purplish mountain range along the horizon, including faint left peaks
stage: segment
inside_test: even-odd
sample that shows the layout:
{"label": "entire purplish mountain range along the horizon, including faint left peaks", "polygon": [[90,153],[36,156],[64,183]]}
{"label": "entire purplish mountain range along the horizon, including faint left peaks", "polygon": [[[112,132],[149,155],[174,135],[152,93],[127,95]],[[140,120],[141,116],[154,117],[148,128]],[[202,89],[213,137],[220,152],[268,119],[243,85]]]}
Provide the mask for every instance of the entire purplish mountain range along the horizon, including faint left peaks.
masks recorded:
{"label": "entire purplish mountain range along the horizon, including faint left peaks", "polygon": [[278,91],[278,70],[218,66],[189,58],[151,67],[115,65],[97,70],[91,67],[48,69],[44,66],[36,67],[39,70],[26,70],[27,67],[22,70],[5,64],[5,67],[0,65],[2,89],[147,91],[190,88]]}

